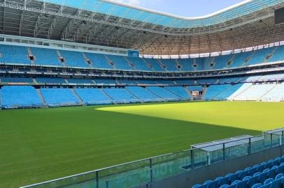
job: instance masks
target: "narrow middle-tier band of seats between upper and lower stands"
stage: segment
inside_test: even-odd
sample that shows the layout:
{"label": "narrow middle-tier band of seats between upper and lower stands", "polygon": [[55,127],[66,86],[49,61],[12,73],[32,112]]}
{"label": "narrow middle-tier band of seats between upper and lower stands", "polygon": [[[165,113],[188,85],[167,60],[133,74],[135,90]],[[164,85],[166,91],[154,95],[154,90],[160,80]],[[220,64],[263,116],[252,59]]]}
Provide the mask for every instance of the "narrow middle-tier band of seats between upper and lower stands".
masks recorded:
{"label": "narrow middle-tier band of seats between upper and lower stands", "polygon": [[[232,84],[239,82],[255,82],[255,81],[281,81],[284,80],[284,74],[273,74],[273,75],[257,75],[250,77],[223,77],[220,79],[137,79],[137,80],[127,80],[127,79],[63,79],[54,77],[38,77],[35,79],[37,83],[47,83],[47,84]],[[24,77],[2,77],[1,82],[21,82],[21,83],[34,83],[32,78]]]}

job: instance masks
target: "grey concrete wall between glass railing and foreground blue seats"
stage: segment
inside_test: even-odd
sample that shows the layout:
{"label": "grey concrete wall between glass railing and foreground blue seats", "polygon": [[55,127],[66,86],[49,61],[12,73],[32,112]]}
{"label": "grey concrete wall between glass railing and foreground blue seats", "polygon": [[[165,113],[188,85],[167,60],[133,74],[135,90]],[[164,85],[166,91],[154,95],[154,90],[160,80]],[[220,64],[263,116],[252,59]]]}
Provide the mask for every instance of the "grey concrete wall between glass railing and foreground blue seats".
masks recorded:
{"label": "grey concrete wall between glass railing and foreground blue seats", "polygon": [[231,159],[225,162],[212,164],[211,166],[194,169],[180,175],[150,182],[148,185],[139,186],[136,188],[190,188],[196,184],[202,184],[206,180],[214,180],[219,176],[224,176],[227,173],[234,173],[238,170],[246,169],[246,167],[267,162],[269,159],[281,157],[283,155],[284,146],[278,146],[257,152],[251,155],[246,155],[236,159]]}

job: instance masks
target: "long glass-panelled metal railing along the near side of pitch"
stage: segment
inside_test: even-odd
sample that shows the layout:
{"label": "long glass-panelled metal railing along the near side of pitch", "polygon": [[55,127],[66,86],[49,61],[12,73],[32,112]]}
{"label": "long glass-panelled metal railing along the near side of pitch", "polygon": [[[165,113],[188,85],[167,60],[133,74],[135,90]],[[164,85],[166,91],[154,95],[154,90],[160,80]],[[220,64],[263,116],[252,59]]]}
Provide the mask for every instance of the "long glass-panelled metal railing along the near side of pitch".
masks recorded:
{"label": "long glass-panelled metal railing along the near side of pitch", "polygon": [[270,134],[264,133],[260,136],[150,157],[21,188],[136,187],[186,173],[192,169],[281,146],[284,141],[283,135],[283,130]]}

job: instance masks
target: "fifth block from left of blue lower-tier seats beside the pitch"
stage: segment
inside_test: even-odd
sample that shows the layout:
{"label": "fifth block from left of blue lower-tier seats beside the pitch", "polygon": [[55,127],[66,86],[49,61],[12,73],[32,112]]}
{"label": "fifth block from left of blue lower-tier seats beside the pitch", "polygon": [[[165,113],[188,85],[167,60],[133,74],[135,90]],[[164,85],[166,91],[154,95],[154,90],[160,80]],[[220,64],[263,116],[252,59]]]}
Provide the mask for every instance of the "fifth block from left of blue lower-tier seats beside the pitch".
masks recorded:
{"label": "fifth block from left of blue lower-tier seats beside the pitch", "polygon": [[138,86],[127,86],[126,87],[127,91],[132,93],[135,97],[139,98],[143,102],[155,102],[155,101],[160,101],[162,100],[160,97],[157,95],[154,95],[150,91],[148,91],[145,88],[138,87]]}

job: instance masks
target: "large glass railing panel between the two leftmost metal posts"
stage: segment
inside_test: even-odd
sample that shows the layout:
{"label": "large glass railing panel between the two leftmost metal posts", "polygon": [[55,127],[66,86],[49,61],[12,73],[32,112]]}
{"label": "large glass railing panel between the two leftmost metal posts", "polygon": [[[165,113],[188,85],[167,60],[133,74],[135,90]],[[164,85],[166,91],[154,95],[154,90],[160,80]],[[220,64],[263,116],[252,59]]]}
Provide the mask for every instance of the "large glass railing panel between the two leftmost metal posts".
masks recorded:
{"label": "large glass railing panel between the two leftmost metal posts", "polygon": [[150,160],[113,166],[99,171],[99,188],[125,188],[150,182]]}

